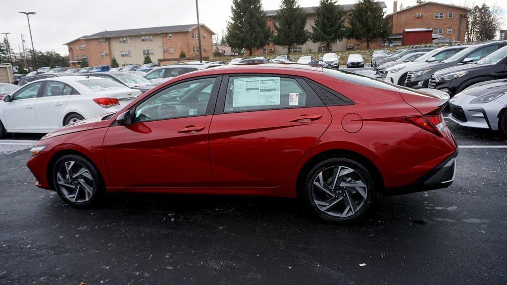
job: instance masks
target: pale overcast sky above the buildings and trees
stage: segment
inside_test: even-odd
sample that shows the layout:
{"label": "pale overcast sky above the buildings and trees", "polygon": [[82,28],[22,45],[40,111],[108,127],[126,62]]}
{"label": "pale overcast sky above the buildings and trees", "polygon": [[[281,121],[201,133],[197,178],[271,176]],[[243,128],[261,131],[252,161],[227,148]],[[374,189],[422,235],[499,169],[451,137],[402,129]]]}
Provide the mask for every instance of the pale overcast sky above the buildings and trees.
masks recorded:
{"label": "pale overcast sky above the buildings and trees", "polygon": [[[265,10],[278,9],[281,0],[262,0]],[[301,7],[318,6],[318,0],[299,0]],[[355,0],[339,0],[339,4],[353,4]],[[393,0],[384,1],[387,13],[392,12]],[[506,0],[438,0],[441,3],[463,5],[464,3],[489,6],[497,4],[507,11]],[[215,33],[226,27],[231,14],[232,0],[200,0],[200,21]],[[399,0],[398,5],[413,6],[415,0]],[[30,16],[35,49],[54,50],[67,54],[64,43],[103,30],[117,30],[153,26],[169,26],[197,23],[193,0],[0,0],[0,33],[11,32],[9,42],[12,49],[21,49],[21,33],[25,47],[30,46],[26,16],[18,11],[36,12]],[[507,19],[507,17],[505,17]],[[507,27],[507,22],[502,25]],[[0,37],[4,37],[0,34]]]}

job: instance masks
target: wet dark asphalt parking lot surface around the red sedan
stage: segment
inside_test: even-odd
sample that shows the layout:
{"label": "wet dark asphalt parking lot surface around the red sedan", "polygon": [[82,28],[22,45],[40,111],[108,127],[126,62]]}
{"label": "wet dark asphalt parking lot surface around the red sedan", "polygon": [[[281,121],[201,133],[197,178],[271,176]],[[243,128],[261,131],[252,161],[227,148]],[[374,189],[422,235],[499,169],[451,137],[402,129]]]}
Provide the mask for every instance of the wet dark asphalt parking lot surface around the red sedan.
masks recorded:
{"label": "wet dark asphalt parking lot surface around the red sedan", "polygon": [[505,284],[507,139],[446,121],[454,184],[379,197],[349,226],[281,198],[115,194],[75,209],[32,185],[40,136],[0,140],[0,283]]}

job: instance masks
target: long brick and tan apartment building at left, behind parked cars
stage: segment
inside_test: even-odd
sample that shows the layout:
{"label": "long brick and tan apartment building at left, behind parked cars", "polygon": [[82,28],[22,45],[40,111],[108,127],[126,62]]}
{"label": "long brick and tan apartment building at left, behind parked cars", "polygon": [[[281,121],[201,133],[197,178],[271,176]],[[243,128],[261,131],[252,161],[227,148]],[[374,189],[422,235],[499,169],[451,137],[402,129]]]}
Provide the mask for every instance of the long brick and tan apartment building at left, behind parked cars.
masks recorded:
{"label": "long brick and tan apartment building at left, behind parked cars", "polygon": [[[212,35],[200,25],[203,56],[212,56]],[[111,64],[113,57],[120,66],[142,64],[145,55],[154,62],[177,58],[181,51],[187,57],[199,54],[197,24],[101,31],[64,44],[68,47],[69,66],[79,67],[83,58],[89,66]]]}

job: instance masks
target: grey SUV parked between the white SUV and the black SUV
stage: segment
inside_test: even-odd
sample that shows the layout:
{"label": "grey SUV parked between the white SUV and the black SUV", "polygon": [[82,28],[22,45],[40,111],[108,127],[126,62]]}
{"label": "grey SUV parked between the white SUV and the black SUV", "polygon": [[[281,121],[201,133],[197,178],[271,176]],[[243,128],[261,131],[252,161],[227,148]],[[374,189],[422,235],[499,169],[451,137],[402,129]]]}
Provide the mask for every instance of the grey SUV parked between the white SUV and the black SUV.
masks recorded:
{"label": "grey SUV parked between the white SUV and the black SUV", "polygon": [[405,86],[428,88],[429,78],[439,70],[453,66],[463,67],[463,64],[477,62],[506,45],[507,41],[496,41],[470,46],[442,62],[429,64],[419,70],[414,70],[412,78],[410,78],[410,81],[407,78]]}

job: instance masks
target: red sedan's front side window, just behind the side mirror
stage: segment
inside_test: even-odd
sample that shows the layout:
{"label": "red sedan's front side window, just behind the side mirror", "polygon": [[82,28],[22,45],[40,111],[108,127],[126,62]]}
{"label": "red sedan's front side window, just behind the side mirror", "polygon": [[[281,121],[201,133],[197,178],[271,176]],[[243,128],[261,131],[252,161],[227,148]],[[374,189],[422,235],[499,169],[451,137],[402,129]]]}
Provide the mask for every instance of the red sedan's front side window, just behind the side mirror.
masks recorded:
{"label": "red sedan's front side window, just behind the side mirror", "polygon": [[137,105],[134,122],[205,115],[215,80],[192,80],[160,91]]}

